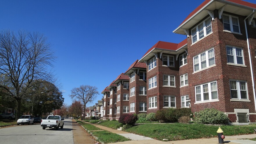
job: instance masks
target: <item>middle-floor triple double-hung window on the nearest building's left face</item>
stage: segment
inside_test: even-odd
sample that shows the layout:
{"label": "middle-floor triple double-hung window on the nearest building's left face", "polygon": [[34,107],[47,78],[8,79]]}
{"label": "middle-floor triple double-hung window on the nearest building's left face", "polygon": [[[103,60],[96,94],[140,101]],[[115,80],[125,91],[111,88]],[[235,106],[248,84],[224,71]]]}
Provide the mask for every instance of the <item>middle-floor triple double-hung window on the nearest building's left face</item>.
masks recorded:
{"label": "middle-floor triple double-hung window on the nearest building's left face", "polygon": [[215,64],[214,49],[205,51],[193,58],[194,72]]}

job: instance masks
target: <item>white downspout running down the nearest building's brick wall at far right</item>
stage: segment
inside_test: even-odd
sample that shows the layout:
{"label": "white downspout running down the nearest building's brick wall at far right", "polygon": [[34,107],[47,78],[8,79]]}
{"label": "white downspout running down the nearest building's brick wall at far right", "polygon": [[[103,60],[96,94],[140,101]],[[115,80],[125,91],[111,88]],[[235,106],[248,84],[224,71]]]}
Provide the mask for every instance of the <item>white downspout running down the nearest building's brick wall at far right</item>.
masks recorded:
{"label": "white downspout running down the nearest building's brick wall at far right", "polygon": [[255,13],[254,10],[243,21],[244,21],[245,32],[246,32],[247,47],[248,47],[248,54],[249,54],[249,60],[250,60],[251,77],[252,77],[252,82],[253,82],[253,98],[254,98],[254,105],[255,105],[255,111],[256,111],[256,96],[255,96],[255,86],[254,86],[254,78],[253,78],[253,65],[252,65],[252,58],[251,58],[251,52],[250,52],[249,38],[248,38],[248,32],[247,32],[247,26],[246,26],[246,19],[248,19],[248,17],[250,17],[253,13]]}

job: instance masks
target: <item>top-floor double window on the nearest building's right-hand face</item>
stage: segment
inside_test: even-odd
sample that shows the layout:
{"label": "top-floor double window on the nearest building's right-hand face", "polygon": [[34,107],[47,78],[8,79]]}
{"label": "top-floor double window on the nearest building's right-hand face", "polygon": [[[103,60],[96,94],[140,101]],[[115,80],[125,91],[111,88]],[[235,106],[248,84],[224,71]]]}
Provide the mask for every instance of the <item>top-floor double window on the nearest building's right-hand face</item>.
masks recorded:
{"label": "top-floor double window on the nearest building's right-hand face", "polygon": [[231,15],[222,15],[223,17],[223,25],[224,30],[240,33],[240,27],[239,27],[239,20],[238,17],[231,16]]}

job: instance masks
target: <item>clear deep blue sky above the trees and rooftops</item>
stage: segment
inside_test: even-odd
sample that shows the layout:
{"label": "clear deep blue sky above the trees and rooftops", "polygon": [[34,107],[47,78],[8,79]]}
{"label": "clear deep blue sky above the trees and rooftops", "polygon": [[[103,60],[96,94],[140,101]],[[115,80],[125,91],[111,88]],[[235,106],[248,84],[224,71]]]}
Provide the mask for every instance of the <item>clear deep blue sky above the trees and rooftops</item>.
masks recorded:
{"label": "clear deep blue sky above the trees and rooftops", "polygon": [[2,0],[0,30],[47,36],[57,56],[53,69],[63,86],[64,103],[70,105],[72,88],[87,84],[101,93],[159,40],[184,40],[185,35],[172,31],[203,1]]}

